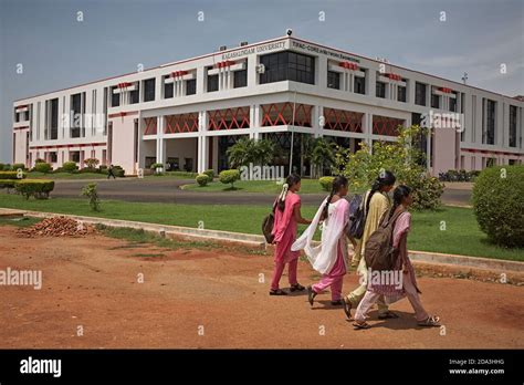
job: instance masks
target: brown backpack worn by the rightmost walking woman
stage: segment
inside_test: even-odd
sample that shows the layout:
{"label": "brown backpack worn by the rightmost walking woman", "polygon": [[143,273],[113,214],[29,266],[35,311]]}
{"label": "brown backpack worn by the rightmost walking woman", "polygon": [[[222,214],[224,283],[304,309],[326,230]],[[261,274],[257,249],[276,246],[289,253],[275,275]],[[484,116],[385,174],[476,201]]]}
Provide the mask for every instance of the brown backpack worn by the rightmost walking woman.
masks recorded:
{"label": "brown backpack worn by the rightmost walking woman", "polygon": [[392,231],[397,218],[404,210],[397,211],[390,219],[389,212],[384,214],[378,229],[371,233],[364,249],[364,259],[367,268],[371,270],[392,270],[397,258],[396,250],[392,248]]}

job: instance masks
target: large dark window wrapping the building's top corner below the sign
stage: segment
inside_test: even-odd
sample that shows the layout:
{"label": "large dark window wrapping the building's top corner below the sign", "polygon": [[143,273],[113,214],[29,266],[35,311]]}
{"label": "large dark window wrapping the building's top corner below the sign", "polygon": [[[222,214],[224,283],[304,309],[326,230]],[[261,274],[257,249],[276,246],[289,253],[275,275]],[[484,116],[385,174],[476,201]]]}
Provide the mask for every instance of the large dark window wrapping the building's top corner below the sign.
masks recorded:
{"label": "large dark window wrapping the building's top corner below the sign", "polygon": [[315,84],[315,59],[313,56],[283,51],[260,56],[265,66],[260,74],[260,84],[294,81]]}

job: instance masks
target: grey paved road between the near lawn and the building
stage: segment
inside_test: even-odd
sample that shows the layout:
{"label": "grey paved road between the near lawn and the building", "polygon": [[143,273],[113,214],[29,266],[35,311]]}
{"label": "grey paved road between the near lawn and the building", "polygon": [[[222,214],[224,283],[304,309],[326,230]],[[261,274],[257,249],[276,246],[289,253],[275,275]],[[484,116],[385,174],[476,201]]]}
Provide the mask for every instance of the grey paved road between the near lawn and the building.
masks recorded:
{"label": "grey paved road between the near lawn and the building", "polygon": [[[166,202],[185,205],[271,205],[274,196],[258,192],[198,192],[181,190],[182,185],[192,179],[175,178],[126,178],[117,180],[96,180],[102,199],[118,199],[137,202]],[[55,181],[54,197],[77,198],[85,180]],[[442,197],[444,204],[469,205],[471,191],[463,188],[447,188]],[[319,205],[323,194],[302,194],[303,205]]]}

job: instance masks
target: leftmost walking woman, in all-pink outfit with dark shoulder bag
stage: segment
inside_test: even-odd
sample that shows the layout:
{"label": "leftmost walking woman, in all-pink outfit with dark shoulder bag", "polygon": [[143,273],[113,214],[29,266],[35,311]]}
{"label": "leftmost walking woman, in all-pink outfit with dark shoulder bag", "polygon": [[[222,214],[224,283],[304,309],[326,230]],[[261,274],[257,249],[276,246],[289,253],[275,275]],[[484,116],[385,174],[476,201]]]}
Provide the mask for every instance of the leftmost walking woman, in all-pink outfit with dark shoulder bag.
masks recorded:
{"label": "leftmost walking woman, in all-pink outfit with dark shoulder bag", "polygon": [[291,251],[291,246],[296,239],[298,223],[308,225],[310,220],[302,218],[301,215],[301,177],[291,174],[282,187],[282,192],[275,202],[274,225],[272,235],[275,246],[275,267],[273,279],[271,281],[270,295],[286,295],[287,293],[279,288],[280,279],[285,264],[289,264],[287,274],[291,291],[303,291],[305,288],[296,280],[296,269],[298,264],[298,251]]}

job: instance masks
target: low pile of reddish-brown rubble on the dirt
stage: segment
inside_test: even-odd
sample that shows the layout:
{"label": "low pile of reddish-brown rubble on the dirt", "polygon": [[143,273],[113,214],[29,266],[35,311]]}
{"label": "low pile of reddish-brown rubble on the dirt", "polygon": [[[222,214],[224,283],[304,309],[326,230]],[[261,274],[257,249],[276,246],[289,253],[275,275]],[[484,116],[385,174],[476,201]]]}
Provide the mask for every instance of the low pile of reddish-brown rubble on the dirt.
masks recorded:
{"label": "low pile of reddish-brown rubble on the dirt", "polygon": [[46,218],[32,227],[18,230],[18,235],[25,238],[82,237],[93,232],[94,227],[65,217]]}

